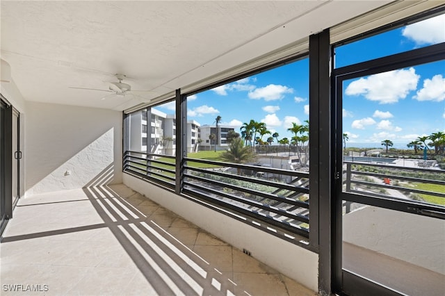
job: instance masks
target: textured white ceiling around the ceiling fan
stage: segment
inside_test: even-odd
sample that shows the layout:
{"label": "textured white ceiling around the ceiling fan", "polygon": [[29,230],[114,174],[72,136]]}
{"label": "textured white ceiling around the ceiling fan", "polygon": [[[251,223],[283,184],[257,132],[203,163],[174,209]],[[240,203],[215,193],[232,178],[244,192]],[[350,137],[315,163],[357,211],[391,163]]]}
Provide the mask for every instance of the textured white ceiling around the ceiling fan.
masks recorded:
{"label": "textured white ceiling around the ceiling fan", "polygon": [[123,110],[387,1],[1,1],[1,58],[27,101]]}

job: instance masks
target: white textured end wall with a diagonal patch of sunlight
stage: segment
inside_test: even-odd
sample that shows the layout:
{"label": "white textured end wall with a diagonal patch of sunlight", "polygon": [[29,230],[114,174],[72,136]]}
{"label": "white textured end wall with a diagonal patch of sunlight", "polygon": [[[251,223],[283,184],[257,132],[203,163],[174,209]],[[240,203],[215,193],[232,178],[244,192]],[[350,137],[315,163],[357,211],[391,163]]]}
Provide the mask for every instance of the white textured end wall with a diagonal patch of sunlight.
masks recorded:
{"label": "white textured end wall with a diagonal patch of sunlight", "polygon": [[26,195],[122,183],[122,113],[27,102]]}

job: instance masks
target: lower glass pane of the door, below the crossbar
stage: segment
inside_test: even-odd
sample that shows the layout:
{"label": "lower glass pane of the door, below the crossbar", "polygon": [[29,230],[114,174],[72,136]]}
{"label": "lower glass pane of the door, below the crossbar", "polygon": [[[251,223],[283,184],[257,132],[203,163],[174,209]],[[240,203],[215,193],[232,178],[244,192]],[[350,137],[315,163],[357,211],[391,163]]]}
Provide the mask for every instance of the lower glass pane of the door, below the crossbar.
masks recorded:
{"label": "lower glass pane of the door, below the crossbar", "polygon": [[405,295],[444,295],[445,220],[343,201],[344,270]]}

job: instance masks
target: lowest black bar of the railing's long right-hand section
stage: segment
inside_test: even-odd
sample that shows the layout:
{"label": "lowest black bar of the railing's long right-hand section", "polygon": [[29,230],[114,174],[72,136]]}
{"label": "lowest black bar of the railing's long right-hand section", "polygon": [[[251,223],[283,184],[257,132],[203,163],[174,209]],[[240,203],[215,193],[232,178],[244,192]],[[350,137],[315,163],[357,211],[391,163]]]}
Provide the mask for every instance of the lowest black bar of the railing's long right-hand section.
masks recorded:
{"label": "lowest black bar of the railing's long right-hand section", "polygon": [[267,224],[271,224],[271,225],[273,225],[275,227],[278,227],[278,228],[284,229],[286,231],[289,231],[291,233],[296,233],[296,234],[298,234],[300,236],[303,236],[305,238],[309,238],[309,231],[307,231],[306,229],[302,229],[302,228],[300,228],[298,226],[293,226],[289,222],[285,222],[285,221],[282,221],[282,220],[277,220],[274,217],[270,217],[270,216],[266,216],[266,215],[259,215],[258,213],[254,213],[254,212],[252,212],[252,211],[250,211],[248,209],[245,209],[245,208],[234,206],[233,204],[225,202],[225,201],[223,201],[221,199],[216,199],[216,198],[213,198],[213,197],[209,197],[208,195],[202,195],[201,192],[193,190],[193,189],[190,189],[190,188],[184,188],[183,191],[184,191],[184,193],[188,193],[189,195],[193,195],[195,197],[200,197],[200,198],[204,199],[207,202],[212,202],[213,204],[218,204],[218,205],[223,206],[225,208],[232,209],[233,211],[237,212],[238,215],[239,214],[243,214],[243,215],[246,215],[248,217],[252,217],[255,220],[260,220],[260,221],[263,221],[263,222],[265,222]]}

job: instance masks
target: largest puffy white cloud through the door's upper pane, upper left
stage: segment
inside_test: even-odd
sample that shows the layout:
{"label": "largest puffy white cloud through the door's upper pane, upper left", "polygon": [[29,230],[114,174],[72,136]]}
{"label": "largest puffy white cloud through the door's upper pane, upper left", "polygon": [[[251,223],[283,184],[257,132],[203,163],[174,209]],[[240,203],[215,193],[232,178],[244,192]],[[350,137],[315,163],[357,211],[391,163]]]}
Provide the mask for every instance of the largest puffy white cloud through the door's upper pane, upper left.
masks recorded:
{"label": "largest puffy white cloud through the door's upper pane, upper left", "polygon": [[405,99],[411,90],[416,90],[420,76],[414,68],[371,75],[349,83],[346,94],[362,94],[366,99],[380,104],[396,103]]}

